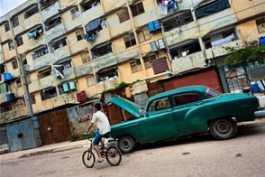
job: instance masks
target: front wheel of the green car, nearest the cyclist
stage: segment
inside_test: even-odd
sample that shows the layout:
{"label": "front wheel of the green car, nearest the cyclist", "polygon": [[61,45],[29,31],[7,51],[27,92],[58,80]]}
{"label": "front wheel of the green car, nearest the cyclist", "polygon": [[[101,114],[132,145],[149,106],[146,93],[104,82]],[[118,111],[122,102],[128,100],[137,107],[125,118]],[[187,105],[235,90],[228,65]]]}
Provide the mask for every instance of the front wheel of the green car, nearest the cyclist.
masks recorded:
{"label": "front wheel of the green car, nearest the cyclist", "polygon": [[118,138],[118,147],[123,154],[131,153],[135,147],[135,141],[130,135]]}

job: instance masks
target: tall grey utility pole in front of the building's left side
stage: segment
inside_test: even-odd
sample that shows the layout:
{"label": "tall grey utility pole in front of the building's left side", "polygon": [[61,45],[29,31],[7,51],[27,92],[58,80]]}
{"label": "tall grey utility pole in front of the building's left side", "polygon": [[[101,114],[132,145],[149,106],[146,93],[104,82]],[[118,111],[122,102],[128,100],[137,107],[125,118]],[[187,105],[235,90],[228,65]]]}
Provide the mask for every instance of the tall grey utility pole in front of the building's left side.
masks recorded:
{"label": "tall grey utility pole in front of the building's left side", "polygon": [[33,116],[32,98],[30,96],[28,82],[26,79],[26,72],[25,72],[25,68],[23,65],[22,54],[18,54],[18,56],[16,56],[15,58],[17,59],[18,65],[19,65],[19,71],[20,71],[21,80],[22,80],[23,89],[24,89],[25,103],[28,108],[28,113],[32,117]]}

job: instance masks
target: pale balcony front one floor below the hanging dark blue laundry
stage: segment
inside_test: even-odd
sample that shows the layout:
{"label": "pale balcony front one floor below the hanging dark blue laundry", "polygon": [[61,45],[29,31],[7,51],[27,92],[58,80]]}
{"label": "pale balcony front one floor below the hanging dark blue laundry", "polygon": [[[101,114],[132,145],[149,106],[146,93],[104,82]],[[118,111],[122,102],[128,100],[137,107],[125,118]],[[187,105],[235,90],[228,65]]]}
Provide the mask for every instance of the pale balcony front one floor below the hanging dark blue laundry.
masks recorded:
{"label": "pale balcony front one floor below the hanging dark blue laundry", "polygon": [[92,62],[92,67],[94,71],[105,69],[108,66],[113,66],[116,64],[116,57],[113,52],[107,53],[103,56],[100,56]]}

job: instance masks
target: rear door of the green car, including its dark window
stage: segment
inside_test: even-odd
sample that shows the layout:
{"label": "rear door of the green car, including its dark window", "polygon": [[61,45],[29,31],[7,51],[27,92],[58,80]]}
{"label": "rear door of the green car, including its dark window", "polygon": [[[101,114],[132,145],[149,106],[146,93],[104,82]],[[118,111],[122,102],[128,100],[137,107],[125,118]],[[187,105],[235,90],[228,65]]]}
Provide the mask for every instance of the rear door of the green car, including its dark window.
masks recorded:
{"label": "rear door of the green car, including its dark window", "polygon": [[173,113],[176,116],[179,134],[188,135],[207,131],[206,107],[198,93],[184,93],[175,95]]}

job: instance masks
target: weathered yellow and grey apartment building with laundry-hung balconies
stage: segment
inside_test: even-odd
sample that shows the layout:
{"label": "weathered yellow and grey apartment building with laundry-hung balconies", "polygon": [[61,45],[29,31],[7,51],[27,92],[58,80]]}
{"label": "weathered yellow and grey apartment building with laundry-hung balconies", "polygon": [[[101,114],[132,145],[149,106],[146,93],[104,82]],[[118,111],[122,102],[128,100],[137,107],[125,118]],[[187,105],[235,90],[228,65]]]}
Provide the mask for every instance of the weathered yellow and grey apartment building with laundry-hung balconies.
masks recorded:
{"label": "weathered yellow and grey apartment building with laundry-hung balconies", "polygon": [[[1,120],[28,115],[17,56],[34,113],[138,79],[169,79],[169,88],[208,82],[228,92],[224,46],[242,33],[264,36],[264,3],[244,1],[29,0],[0,18]],[[178,79],[196,70],[195,79]]]}

